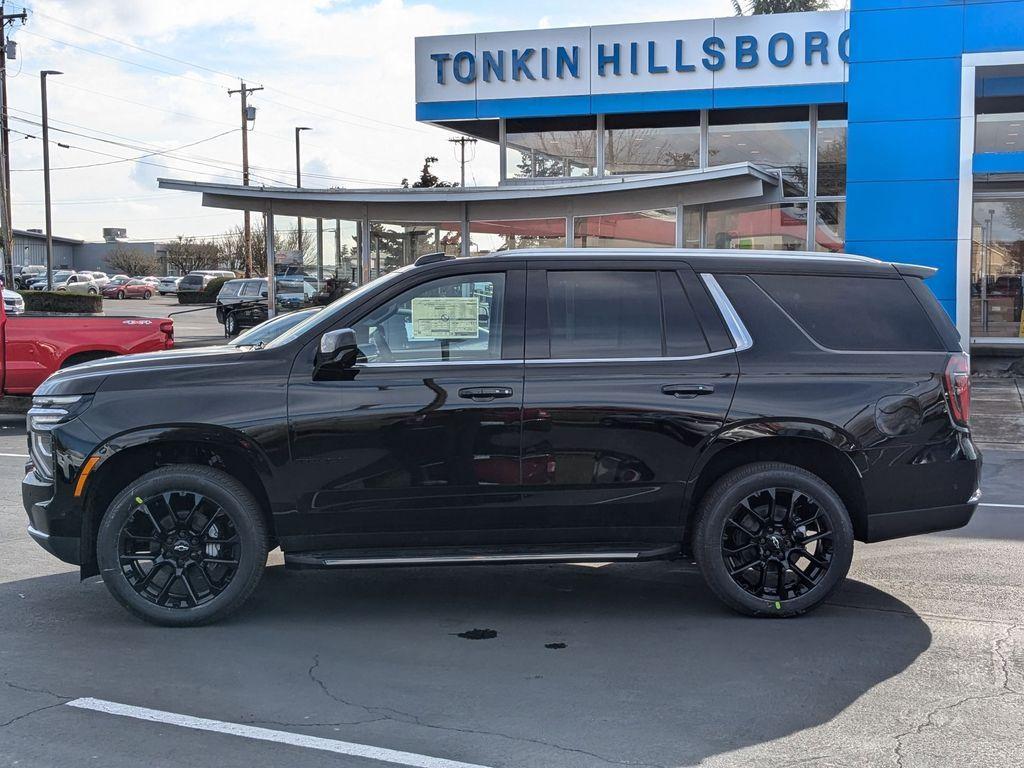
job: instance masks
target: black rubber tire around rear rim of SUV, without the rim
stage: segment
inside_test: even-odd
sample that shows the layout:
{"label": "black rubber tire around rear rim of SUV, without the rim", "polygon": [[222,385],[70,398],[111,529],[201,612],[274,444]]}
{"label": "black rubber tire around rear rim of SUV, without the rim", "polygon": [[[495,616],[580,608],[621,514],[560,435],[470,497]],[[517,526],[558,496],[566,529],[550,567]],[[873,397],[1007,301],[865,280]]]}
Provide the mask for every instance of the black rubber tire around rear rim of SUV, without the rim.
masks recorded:
{"label": "black rubber tire around rear rim of SUV, without the rim", "polygon": [[[745,471],[744,471],[745,470]],[[756,597],[729,575],[722,555],[726,519],[746,497],[767,487],[786,487],[813,498],[833,530],[833,560],[824,579],[810,592],[781,601]],[[755,615],[791,616],[821,603],[846,578],[853,561],[853,525],[846,506],[835,490],[816,475],[779,464],[741,467],[726,475],[707,494],[698,514],[694,555],[712,589],[731,607]]]}

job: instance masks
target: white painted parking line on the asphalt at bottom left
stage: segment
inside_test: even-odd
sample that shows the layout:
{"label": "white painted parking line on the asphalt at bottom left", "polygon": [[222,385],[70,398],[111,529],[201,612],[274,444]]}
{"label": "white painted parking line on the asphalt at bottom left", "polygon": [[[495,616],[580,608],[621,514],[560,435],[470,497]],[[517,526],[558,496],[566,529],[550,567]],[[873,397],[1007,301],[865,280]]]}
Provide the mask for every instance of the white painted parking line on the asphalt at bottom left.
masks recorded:
{"label": "white painted parking line on the asphalt at bottom left", "polygon": [[147,720],[151,723],[166,723],[167,725],[177,725],[181,728],[193,728],[212,733],[226,733],[231,736],[255,738],[260,741],[276,741],[278,743],[290,744],[291,746],[333,752],[337,755],[350,755],[352,757],[367,758],[368,760],[377,760],[381,763],[391,763],[393,765],[408,765],[415,768],[486,768],[485,766],[473,763],[461,763],[458,760],[444,760],[443,758],[432,758],[412,752],[398,752],[396,750],[385,750],[380,746],[356,744],[350,741],[337,741],[333,738],[319,738],[317,736],[307,736],[302,733],[257,728],[252,725],[242,725],[241,723],[224,723],[220,720],[194,718],[189,715],[178,715],[174,712],[162,712],[161,710],[148,710],[144,707],[132,707],[130,705],[118,703],[117,701],[105,701],[101,698],[76,698],[67,703],[69,707],[75,707],[79,710],[92,710],[93,712],[102,712],[108,715]]}

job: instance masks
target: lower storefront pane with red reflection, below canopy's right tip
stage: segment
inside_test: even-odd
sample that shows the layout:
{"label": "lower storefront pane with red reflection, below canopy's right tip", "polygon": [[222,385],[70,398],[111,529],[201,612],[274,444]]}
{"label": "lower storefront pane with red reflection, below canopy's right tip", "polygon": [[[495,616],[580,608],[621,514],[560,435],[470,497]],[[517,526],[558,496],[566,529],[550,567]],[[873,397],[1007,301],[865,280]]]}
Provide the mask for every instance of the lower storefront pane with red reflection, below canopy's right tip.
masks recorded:
{"label": "lower storefront pane with red reflection, below canopy's right tip", "polygon": [[708,248],[803,251],[807,204],[790,203],[708,211]]}

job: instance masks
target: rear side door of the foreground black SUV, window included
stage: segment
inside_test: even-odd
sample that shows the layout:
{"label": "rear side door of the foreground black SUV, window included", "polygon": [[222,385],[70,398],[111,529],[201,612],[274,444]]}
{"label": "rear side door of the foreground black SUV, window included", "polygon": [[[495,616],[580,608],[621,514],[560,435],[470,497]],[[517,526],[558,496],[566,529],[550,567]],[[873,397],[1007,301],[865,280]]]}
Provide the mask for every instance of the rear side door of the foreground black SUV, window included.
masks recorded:
{"label": "rear side door of the foreground black SUV, window included", "polygon": [[680,541],[685,483],[738,369],[677,266],[530,265],[522,504],[552,543]]}

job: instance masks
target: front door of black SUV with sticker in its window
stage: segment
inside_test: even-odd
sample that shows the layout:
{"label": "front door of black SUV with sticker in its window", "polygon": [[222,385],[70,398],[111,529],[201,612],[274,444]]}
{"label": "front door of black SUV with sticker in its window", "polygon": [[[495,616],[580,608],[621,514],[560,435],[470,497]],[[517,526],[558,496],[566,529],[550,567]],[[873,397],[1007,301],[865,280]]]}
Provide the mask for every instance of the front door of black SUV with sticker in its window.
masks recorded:
{"label": "front door of black SUV with sticker in its window", "polygon": [[402,281],[342,321],[359,342],[342,380],[317,380],[318,339],[306,345],[288,391],[297,513],[281,518],[286,547],[515,540],[524,274]]}

